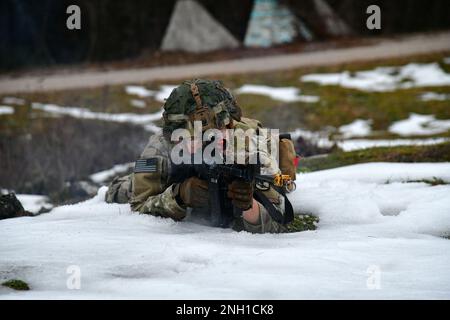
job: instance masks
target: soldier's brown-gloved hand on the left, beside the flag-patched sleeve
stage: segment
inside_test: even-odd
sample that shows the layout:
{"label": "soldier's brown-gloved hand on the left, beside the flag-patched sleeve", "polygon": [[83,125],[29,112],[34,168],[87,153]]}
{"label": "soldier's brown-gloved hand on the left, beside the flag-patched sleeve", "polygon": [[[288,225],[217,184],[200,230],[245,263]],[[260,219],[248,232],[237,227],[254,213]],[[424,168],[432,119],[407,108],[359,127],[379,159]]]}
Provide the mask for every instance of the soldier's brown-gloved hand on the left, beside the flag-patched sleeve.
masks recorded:
{"label": "soldier's brown-gloved hand on the left, beside the flag-patched sleeve", "polygon": [[208,183],[197,177],[186,179],[180,184],[179,197],[187,207],[206,207],[209,199]]}

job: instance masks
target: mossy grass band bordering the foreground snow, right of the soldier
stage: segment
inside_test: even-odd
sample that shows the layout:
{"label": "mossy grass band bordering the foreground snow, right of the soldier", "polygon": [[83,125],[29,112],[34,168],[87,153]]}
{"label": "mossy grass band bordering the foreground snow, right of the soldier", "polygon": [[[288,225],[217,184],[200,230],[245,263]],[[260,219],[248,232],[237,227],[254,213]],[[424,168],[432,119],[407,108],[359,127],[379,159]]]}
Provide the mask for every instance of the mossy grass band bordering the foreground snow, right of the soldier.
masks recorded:
{"label": "mossy grass band bordering the foreground snow, right of the soldier", "polygon": [[[366,162],[444,162],[450,161],[450,142],[432,146],[404,146],[337,151],[328,156],[300,160],[299,171],[310,172]],[[439,184],[439,181],[435,181]]]}

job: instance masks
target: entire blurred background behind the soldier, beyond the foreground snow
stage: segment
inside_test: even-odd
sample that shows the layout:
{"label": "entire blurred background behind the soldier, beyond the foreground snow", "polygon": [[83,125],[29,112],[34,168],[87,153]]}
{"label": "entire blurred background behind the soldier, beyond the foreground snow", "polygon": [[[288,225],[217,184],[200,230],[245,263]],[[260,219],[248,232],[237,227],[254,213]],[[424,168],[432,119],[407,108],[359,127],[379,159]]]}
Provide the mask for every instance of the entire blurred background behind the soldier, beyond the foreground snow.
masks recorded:
{"label": "entire blurred background behind the soldier, beyond the foreground snow", "polygon": [[[70,5],[81,9],[80,30],[66,27]],[[367,28],[369,5],[381,9],[381,29]],[[3,0],[0,189],[34,213],[91,197],[129,171],[159,130],[164,98],[197,76],[135,71],[193,63],[214,65],[199,74],[221,79],[245,115],[291,132],[299,171],[450,161],[449,16],[445,0]],[[340,51],[370,46],[371,57]],[[221,69],[324,52],[323,65]],[[96,80],[108,71],[123,73]],[[65,82],[78,74],[92,77]],[[63,87],[40,86],[48,79]]]}

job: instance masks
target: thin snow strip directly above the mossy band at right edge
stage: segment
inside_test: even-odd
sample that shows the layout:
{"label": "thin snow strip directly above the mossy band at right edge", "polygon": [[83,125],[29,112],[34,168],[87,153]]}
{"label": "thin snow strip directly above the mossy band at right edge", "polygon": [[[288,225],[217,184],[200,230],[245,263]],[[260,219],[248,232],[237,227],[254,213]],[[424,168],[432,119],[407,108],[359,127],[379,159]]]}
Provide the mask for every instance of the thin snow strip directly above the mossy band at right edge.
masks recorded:
{"label": "thin snow strip directly above the mossy band at right edge", "polygon": [[396,147],[396,146],[428,146],[449,141],[448,138],[429,139],[393,139],[393,140],[372,140],[372,139],[351,139],[338,141],[337,145],[343,151],[354,151],[376,147]]}

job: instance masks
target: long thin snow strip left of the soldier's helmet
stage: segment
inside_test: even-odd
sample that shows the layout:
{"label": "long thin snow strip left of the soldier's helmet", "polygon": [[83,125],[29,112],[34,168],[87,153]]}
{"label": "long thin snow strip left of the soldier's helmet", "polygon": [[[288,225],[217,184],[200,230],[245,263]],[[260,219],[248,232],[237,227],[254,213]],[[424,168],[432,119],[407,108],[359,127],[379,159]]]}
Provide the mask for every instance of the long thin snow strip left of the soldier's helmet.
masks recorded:
{"label": "long thin snow strip left of the soldier's helmet", "polygon": [[161,119],[162,110],[151,114],[137,114],[137,113],[105,113],[94,112],[86,108],[77,107],[61,107],[54,104],[33,103],[34,110],[41,110],[51,114],[66,115],[79,119],[101,120],[120,123],[132,123],[136,125],[143,125],[149,131],[159,129],[152,125],[154,121]]}

